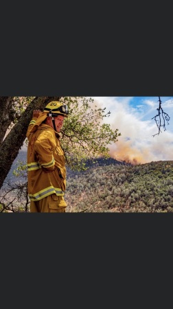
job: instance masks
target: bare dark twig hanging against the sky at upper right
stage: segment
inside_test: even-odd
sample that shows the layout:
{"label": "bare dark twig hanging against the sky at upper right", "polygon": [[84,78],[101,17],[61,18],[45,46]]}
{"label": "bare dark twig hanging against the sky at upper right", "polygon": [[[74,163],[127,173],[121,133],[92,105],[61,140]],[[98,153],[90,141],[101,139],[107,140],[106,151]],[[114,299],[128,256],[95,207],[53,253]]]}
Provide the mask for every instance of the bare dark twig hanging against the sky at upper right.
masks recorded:
{"label": "bare dark twig hanging against the sky at upper right", "polygon": [[162,133],[161,128],[163,128],[164,131],[165,131],[166,130],[165,121],[167,122],[167,124],[169,124],[169,120],[170,120],[170,116],[163,111],[163,108],[161,107],[161,103],[162,102],[161,102],[161,99],[159,97],[159,108],[157,108],[158,114],[156,116],[152,117],[152,119],[154,119],[156,124],[157,124],[157,128],[159,129],[159,132],[152,135],[153,137],[155,135],[159,135],[159,133]]}

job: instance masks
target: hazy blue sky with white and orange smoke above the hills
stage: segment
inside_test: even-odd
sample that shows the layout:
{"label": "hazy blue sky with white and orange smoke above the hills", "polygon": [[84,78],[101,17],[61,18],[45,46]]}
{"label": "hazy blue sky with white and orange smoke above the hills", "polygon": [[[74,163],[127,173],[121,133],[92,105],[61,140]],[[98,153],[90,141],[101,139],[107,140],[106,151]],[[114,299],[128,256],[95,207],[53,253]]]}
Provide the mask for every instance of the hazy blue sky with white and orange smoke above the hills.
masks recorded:
{"label": "hazy blue sky with white and orange smoke above the hills", "polygon": [[[157,124],[152,119],[158,114],[159,97],[92,97],[111,115],[105,121],[122,135],[111,146],[111,157],[119,161],[149,163],[173,160],[173,97],[160,97],[163,112],[170,116],[169,124],[157,134]],[[153,137],[153,135],[155,135]]]}

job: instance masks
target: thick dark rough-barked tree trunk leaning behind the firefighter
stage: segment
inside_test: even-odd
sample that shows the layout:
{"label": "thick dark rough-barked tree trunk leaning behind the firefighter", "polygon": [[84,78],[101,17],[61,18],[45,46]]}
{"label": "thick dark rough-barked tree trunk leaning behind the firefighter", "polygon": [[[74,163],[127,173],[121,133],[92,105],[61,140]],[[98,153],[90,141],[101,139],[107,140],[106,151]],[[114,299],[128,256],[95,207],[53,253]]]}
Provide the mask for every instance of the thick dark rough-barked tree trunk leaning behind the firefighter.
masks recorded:
{"label": "thick dark rough-barked tree trunk leaning behind the firefighter", "polygon": [[[2,98],[2,97],[1,97]],[[6,99],[5,99],[6,98]],[[23,146],[26,138],[27,127],[32,119],[32,112],[34,109],[43,111],[47,103],[51,101],[58,101],[61,97],[36,97],[27,106],[25,112],[19,119],[10,133],[5,137],[0,146],[0,189],[3,185],[5,177],[8,175],[14,159],[16,159],[19,149]],[[4,102],[9,102],[10,98],[4,97]]]}

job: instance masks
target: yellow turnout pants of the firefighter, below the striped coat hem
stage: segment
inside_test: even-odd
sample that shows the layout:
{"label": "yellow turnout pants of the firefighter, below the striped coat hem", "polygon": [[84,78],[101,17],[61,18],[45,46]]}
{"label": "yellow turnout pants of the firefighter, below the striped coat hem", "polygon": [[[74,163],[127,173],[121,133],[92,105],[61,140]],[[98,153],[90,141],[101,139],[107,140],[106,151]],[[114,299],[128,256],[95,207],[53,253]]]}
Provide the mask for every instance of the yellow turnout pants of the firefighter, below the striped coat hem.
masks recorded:
{"label": "yellow turnout pants of the firefighter, below the striped coat hem", "polygon": [[40,201],[31,201],[30,212],[65,212],[67,203],[63,196],[51,194]]}

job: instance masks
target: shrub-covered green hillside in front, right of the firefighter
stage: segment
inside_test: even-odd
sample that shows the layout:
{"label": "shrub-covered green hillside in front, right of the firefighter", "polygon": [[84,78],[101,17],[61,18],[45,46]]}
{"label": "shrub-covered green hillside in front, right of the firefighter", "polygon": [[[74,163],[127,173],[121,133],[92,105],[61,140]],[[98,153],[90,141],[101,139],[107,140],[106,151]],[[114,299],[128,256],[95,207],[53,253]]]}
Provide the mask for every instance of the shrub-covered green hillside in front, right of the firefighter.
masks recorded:
{"label": "shrub-covered green hillside in front, right of the firefighter", "polygon": [[69,173],[65,199],[69,212],[172,212],[173,161],[100,161],[87,171]]}

